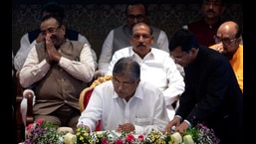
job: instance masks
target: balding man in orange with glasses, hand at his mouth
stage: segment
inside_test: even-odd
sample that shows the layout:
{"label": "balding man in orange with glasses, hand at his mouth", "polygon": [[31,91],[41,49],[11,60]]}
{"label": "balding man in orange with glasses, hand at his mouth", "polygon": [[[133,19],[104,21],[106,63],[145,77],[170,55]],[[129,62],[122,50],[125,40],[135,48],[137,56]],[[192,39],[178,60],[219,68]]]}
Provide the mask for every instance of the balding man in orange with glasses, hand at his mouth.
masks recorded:
{"label": "balding man in orange with glasses, hand at his mouth", "polygon": [[237,23],[233,21],[224,22],[216,33],[216,44],[210,46],[210,48],[227,57],[243,92],[243,45],[241,45],[241,33]]}

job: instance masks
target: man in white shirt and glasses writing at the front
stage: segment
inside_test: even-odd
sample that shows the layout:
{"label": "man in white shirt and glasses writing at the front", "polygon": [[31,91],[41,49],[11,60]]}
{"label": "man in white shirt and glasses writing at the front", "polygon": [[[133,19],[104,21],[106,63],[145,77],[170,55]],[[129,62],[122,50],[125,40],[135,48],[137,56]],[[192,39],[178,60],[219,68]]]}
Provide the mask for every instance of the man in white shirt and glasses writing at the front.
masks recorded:
{"label": "man in white shirt and glasses writing at the front", "polygon": [[131,58],[120,59],[113,70],[113,79],[96,86],[82,112],[78,127],[95,131],[102,119],[101,130],[150,133],[163,132],[168,115],[162,92],[140,80],[139,65]]}

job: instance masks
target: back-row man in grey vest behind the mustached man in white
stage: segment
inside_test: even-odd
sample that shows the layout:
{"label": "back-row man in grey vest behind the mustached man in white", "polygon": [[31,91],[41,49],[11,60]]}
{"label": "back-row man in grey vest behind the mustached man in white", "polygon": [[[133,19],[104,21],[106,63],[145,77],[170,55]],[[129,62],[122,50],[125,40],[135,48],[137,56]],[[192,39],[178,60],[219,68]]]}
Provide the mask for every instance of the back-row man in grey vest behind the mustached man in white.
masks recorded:
{"label": "back-row man in grey vest behind the mustached man in white", "polygon": [[[147,22],[147,7],[141,2],[131,2],[126,9],[127,24],[124,24],[116,29],[113,29],[105,40],[102,52],[99,59],[99,67],[95,76],[105,75],[108,72],[109,64],[114,53],[120,49],[130,46],[128,37],[130,36],[131,26],[137,22]],[[168,38],[164,31],[152,27],[154,42],[152,47],[168,51]]]}

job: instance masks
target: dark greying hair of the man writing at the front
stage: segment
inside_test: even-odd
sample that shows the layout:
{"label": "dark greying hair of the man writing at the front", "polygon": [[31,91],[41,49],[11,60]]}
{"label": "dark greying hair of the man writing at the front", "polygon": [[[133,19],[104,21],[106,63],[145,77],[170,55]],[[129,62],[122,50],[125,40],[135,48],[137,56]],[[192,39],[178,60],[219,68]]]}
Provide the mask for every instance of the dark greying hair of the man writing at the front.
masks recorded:
{"label": "dark greying hair of the man writing at the front", "polygon": [[128,75],[132,81],[136,81],[140,78],[140,68],[132,58],[124,57],[115,64],[113,75]]}

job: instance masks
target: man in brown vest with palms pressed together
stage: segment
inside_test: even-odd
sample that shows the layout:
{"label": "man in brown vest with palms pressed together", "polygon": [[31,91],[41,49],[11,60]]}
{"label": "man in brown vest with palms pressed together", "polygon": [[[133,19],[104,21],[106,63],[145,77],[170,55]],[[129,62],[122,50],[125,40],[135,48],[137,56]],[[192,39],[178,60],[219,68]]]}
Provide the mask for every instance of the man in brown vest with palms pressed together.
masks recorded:
{"label": "man in brown vest with palms pressed together", "polygon": [[66,27],[57,15],[40,25],[44,40],[36,44],[20,72],[23,87],[35,85],[34,117],[58,126],[77,128],[80,92],[94,77],[95,64],[88,44],[65,38]]}

